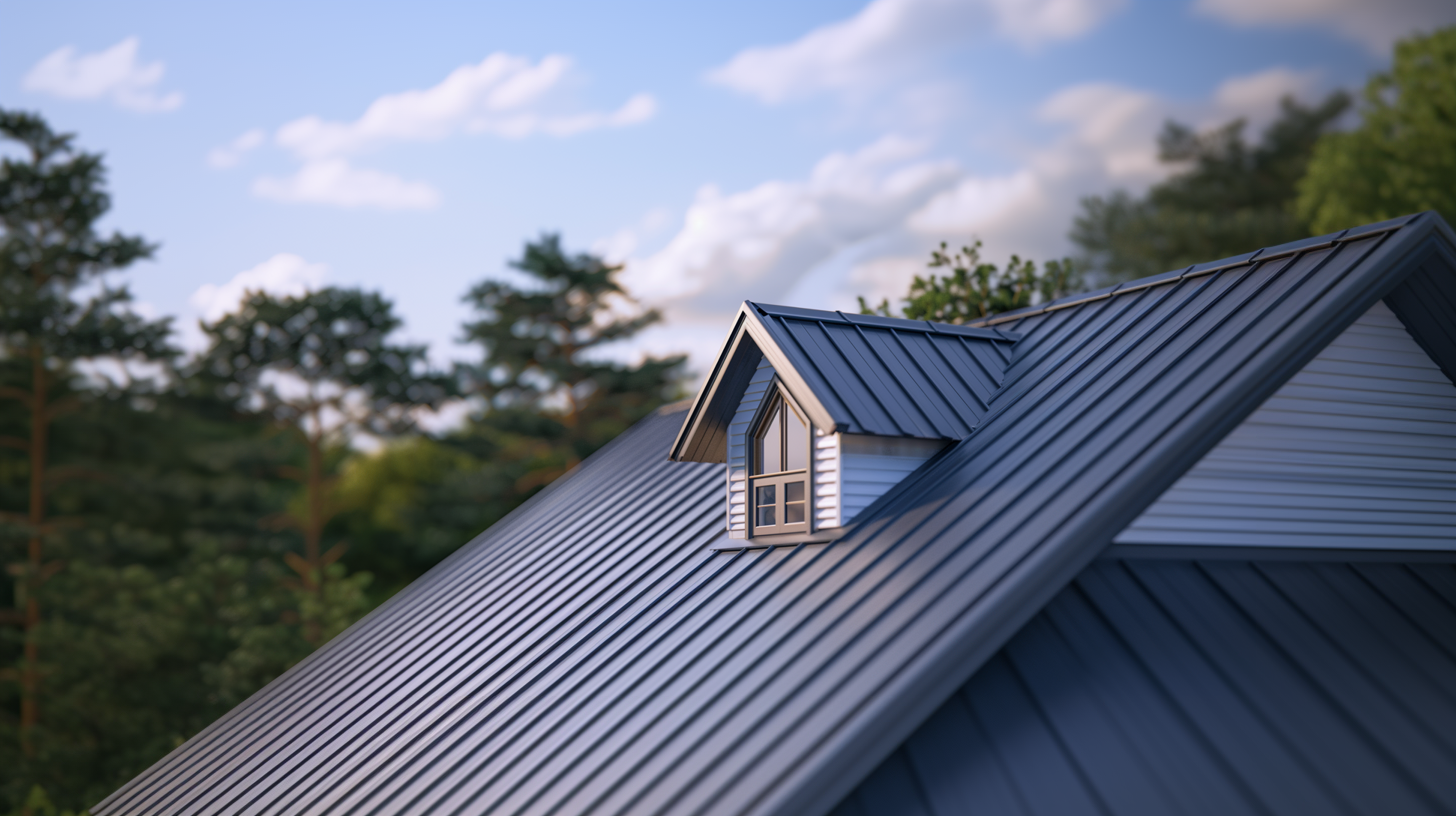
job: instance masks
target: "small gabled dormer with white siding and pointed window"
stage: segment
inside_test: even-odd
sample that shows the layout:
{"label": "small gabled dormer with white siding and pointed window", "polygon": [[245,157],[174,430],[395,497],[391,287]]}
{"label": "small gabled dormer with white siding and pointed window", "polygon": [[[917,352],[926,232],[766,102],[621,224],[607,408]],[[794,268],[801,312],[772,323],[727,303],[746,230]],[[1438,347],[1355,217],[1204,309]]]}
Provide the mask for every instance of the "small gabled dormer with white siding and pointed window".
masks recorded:
{"label": "small gabled dormer with white siding and pointed window", "polygon": [[842,527],[971,434],[1018,337],[745,302],[670,456],[728,466],[729,538]]}

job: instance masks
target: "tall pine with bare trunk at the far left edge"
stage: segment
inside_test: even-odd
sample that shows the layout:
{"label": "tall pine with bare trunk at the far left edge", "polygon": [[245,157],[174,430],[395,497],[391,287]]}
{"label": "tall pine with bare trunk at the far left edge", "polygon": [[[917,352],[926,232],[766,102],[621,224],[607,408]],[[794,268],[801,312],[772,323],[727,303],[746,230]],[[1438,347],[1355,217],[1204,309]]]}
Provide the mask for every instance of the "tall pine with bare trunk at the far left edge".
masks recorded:
{"label": "tall pine with bare trunk at the far left edge", "polygon": [[[25,561],[10,571],[25,629],[16,678],[20,743],[29,755],[41,715],[39,589],[61,568],[60,561],[45,558],[47,539],[61,522],[50,514],[50,493],[80,475],[54,466],[51,427],[80,405],[77,395],[66,393],[77,361],[166,360],[173,350],[167,322],[127,310],[127,289],[105,280],[151,256],[154,246],[138,236],[96,232],[96,221],[111,208],[100,156],[77,152],[73,136],[51,131],[32,114],[0,111],[0,138],[25,153],[0,160],[0,357],[25,369],[23,385],[7,383],[0,396],[20,402],[29,421],[23,436],[7,436],[0,444],[25,452],[29,490],[25,513],[6,513],[0,520],[23,530],[26,539]],[[82,294],[83,287],[95,289]]]}

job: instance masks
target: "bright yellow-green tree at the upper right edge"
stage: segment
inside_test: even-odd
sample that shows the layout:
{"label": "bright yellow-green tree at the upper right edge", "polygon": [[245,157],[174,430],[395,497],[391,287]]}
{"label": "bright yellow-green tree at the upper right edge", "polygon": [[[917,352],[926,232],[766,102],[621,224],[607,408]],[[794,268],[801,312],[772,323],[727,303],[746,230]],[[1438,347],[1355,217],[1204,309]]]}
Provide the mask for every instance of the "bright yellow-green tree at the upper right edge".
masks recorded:
{"label": "bright yellow-green tree at the upper right edge", "polygon": [[1315,146],[1299,185],[1315,233],[1436,210],[1456,223],[1456,26],[1398,42],[1354,130]]}

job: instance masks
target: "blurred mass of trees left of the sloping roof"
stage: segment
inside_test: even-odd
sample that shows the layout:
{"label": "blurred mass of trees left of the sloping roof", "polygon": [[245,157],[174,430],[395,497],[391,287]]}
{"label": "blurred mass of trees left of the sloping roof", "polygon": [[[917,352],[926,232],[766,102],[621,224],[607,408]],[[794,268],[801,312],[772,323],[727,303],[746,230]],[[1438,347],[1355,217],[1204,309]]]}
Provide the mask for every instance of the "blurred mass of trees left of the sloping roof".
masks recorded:
{"label": "blurred mass of trees left of the sloping roof", "polygon": [[344,287],[250,291],[188,357],[118,283],[156,245],[98,230],[102,159],[0,138],[0,813],[95,804],[678,396],[683,357],[600,356],[658,315],[553,235],[466,294],[478,363]]}

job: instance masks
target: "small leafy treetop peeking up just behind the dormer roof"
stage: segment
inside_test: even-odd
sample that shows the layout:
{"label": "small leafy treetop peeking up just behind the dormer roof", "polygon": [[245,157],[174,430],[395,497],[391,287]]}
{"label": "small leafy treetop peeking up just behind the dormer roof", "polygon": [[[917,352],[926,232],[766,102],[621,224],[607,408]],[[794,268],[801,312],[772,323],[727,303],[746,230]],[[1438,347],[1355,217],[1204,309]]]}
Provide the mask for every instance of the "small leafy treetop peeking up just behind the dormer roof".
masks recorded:
{"label": "small leafy treetop peeking up just behind the dormer roof", "polygon": [[[910,293],[900,313],[911,321],[935,321],[939,323],[964,323],[997,312],[1009,312],[1034,303],[1054,300],[1072,294],[1082,287],[1082,275],[1070,258],[1047,261],[1037,270],[1034,261],[1022,261],[1012,255],[1006,270],[981,261],[981,242],[951,252],[942,240],[939,249],[930,251],[926,267],[949,268],[948,275],[916,275],[910,281]],[[859,299],[860,315],[890,315],[890,300],[869,306]]]}

